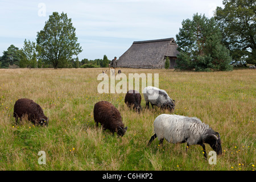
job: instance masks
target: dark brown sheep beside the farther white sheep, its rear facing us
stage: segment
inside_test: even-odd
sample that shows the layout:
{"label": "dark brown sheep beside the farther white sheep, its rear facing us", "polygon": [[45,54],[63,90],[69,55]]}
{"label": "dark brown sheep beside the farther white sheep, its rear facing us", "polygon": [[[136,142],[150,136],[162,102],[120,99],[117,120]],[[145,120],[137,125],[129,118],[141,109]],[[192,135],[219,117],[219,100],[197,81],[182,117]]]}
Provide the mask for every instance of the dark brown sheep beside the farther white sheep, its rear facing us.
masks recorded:
{"label": "dark brown sheep beside the farther white sheep, its rear facing us", "polygon": [[125,96],[125,104],[128,107],[133,106],[135,111],[141,112],[141,94],[137,90],[129,90]]}

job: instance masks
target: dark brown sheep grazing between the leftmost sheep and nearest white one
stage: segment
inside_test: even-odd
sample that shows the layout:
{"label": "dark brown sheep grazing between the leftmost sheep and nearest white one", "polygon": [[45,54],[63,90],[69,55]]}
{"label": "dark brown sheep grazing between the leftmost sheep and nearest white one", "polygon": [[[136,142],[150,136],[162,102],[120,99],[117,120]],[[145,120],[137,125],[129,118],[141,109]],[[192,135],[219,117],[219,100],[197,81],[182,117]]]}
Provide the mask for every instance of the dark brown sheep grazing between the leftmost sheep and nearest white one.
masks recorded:
{"label": "dark brown sheep grazing between the leftmost sheep and nearest white one", "polygon": [[98,123],[101,123],[103,129],[109,129],[113,135],[116,132],[122,137],[127,130],[127,126],[122,123],[120,112],[108,101],[100,101],[94,105],[93,117],[97,127]]}

